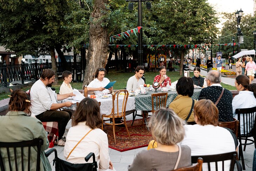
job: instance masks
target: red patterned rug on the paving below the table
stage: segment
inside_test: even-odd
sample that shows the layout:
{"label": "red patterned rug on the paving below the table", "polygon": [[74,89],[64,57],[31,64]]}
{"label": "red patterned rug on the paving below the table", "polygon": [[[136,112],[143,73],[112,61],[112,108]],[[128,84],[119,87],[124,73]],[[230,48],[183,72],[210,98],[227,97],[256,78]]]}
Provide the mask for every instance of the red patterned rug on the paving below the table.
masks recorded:
{"label": "red patterned rug on the paving below the table", "polygon": [[116,144],[113,136],[112,125],[104,125],[103,130],[108,135],[108,146],[117,151],[128,151],[136,148],[147,147],[153,140],[151,132],[143,126],[142,119],[136,119],[131,126],[132,121],[126,121],[131,140],[125,127],[115,126]]}

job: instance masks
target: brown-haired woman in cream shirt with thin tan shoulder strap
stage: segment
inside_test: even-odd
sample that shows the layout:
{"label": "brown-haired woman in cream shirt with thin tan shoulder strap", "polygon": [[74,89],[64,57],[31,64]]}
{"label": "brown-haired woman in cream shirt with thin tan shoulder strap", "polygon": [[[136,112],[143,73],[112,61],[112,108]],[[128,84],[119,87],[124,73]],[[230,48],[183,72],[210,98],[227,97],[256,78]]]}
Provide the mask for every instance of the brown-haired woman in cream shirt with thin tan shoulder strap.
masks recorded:
{"label": "brown-haired woman in cream shirt with thin tan shoulder strap", "polygon": [[[64,157],[68,162],[87,163],[85,156],[93,152],[100,171],[115,171],[109,158],[107,134],[99,129],[101,122],[99,102],[83,99],[73,114],[66,138]],[[88,163],[92,163],[92,158]]]}

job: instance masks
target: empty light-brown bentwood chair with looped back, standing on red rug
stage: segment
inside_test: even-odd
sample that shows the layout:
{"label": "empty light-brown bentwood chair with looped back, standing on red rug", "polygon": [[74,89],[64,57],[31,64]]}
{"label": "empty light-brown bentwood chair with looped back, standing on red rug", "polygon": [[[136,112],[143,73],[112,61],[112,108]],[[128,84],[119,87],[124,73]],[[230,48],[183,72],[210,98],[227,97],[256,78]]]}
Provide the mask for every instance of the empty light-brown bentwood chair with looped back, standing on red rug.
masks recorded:
{"label": "empty light-brown bentwood chair with looped back, standing on red rug", "polygon": [[[121,95],[120,93],[122,93],[123,95]],[[101,116],[102,117],[101,129],[103,130],[103,124],[112,125],[115,143],[116,143],[116,138],[115,138],[115,126],[116,125],[124,124],[127,134],[129,136],[129,138],[131,139],[128,128],[127,128],[127,124],[126,124],[126,118],[125,118],[128,95],[129,95],[129,93],[127,90],[116,91],[115,94],[112,96],[112,112],[109,115]],[[119,109],[120,102],[122,103],[121,110]],[[115,112],[115,109],[117,112]],[[109,119],[104,120],[104,117],[107,117]],[[121,123],[115,123],[115,118],[123,118],[123,119],[119,120]],[[112,121],[112,123],[108,123],[106,121]]]}

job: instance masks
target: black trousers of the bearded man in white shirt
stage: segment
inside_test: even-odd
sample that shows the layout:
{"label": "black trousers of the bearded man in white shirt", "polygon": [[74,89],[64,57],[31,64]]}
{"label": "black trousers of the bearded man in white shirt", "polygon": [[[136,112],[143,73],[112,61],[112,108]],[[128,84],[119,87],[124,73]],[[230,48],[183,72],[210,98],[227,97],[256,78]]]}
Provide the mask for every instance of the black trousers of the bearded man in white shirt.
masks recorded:
{"label": "black trousers of the bearded man in white shirt", "polygon": [[62,111],[45,111],[39,115],[36,115],[35,117],[41,122],[58,122],[59,137],[61,138],[65,133],[66,126],[71,116],[72,112],[64,109]]}

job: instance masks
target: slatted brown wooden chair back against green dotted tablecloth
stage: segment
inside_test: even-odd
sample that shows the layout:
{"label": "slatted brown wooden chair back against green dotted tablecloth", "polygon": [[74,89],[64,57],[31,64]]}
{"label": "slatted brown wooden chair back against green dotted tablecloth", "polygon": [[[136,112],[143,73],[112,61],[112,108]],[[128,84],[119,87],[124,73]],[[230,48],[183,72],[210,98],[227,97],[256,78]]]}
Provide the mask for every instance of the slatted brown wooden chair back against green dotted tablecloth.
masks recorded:
{"label": "slatted brown wooden chair back against green dotted tablecloth", "polygon": [[[152,112],[154,112],[157,109],[160,109],[161,107],[166,108],[167,96],[168,96],[167,92],[151,94]],[[156,105],[156,108],[154,108],[154,104]]]}

